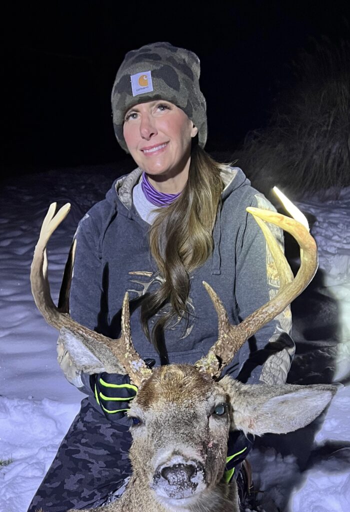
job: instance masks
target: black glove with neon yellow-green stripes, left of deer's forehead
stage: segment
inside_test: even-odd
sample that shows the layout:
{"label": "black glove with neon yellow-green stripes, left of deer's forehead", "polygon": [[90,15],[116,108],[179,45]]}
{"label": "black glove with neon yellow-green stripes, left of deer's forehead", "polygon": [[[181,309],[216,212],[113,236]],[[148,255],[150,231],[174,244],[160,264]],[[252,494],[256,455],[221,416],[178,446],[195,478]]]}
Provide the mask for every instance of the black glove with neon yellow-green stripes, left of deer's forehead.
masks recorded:
{"label": "black glove with neon yellow-green stripes, left of deer's forehead", "polygon": [[[145,359],[145,363],[151,369],[156,361]],[[125,416],[130,409],[129,402],[135,398],[138,390],[128,375],[120,373],[95,373],[90,376],[90,386],[105,417],[111,421]]]}

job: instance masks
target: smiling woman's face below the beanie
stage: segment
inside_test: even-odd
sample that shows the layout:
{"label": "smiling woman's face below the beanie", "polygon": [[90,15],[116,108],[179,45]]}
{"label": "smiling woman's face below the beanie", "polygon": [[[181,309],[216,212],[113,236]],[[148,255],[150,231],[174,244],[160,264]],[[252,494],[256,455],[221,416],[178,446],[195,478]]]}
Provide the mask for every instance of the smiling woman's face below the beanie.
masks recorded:
{"label": "smiling woman's face below the beanie", "polygon": [[191,139],[198,130],[183,110],[169,101],[140,103],[124,120],[124,139],[138,166],[167,179],[189,167]]}

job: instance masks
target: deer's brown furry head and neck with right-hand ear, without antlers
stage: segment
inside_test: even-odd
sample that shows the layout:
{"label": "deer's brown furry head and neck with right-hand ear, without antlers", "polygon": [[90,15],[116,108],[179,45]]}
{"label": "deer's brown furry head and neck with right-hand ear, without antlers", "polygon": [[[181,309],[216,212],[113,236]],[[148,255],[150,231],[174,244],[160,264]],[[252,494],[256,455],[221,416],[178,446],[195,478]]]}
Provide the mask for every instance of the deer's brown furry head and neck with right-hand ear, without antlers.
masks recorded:
{"label": "deer's brown furry head and neck with right-hand ear, without antlers", "polygon": [[[255,435],[297,430],[322,412],[335,391],[332,385],[244,385],[230,377],[215,382],[190,365],[157,368],[128,414],[141,422],[130,428],[133,475],[125,492],[90,510],[239,512],[236,482],[223,479],[230,429]],[[225,413],[218,416],[220,404]]]}

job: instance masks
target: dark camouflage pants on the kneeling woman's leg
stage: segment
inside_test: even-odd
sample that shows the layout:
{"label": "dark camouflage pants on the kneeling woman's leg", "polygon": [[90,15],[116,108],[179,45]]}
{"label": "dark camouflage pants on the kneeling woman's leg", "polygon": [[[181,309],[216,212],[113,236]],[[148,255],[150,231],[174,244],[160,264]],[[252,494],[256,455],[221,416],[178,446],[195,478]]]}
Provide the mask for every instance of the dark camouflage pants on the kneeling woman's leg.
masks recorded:
{"label": "dark camouflage pants on the kneeling woman's leg", "polygon": [[111,423],[97,407],[93,397],[82,400],[28,512],[40,507],[45,512],[66,512],[105,504],[113,501],[131,474],[129,420]]}

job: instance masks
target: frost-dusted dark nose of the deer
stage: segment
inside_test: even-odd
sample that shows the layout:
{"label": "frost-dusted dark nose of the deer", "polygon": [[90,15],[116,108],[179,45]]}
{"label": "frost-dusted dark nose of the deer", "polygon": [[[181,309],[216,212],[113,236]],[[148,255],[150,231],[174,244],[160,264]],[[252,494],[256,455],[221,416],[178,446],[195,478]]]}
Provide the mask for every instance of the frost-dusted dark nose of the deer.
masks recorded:
{"label": "frost-dusted dark nose of the deer", "polygon": [[204,483],[205,472],[201,462],[190,460],[171,464],[170,461],[158,466],[151,487],[163,497],[183,499],[199,492]]}

